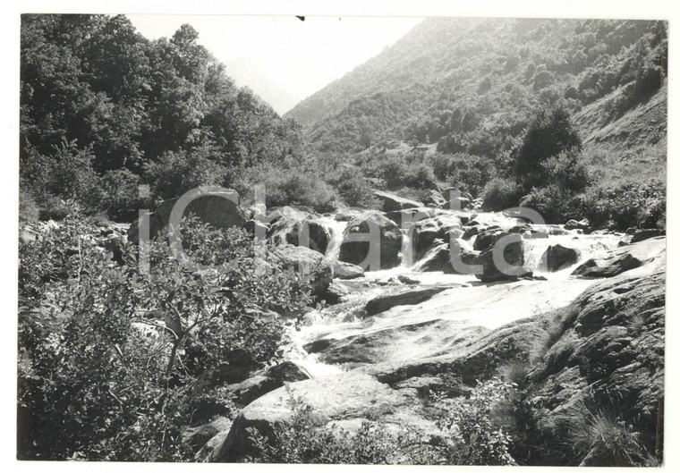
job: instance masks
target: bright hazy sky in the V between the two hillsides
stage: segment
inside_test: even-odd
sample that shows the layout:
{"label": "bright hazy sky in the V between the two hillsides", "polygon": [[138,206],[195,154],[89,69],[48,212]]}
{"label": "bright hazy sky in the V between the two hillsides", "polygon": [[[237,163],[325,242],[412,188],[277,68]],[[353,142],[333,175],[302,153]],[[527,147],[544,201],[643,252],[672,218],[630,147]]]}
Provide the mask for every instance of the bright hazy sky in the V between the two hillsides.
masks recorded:
{"label": "bright hazy sky in the V between the two hillsides", "polygon": [[247,85],[283,114],[378,55],[421,18],[235,15],[127,15],[147,38],[171,37],[183,23]]}

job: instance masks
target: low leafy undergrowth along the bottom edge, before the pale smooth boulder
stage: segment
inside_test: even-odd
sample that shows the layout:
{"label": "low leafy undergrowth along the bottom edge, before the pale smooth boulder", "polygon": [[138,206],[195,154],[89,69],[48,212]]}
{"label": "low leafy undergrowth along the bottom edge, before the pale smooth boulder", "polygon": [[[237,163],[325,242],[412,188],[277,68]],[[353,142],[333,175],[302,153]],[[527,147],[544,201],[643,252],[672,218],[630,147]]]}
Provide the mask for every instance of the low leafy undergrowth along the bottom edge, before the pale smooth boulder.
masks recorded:
{"label": "low leafy undergrowth along the bottom edge, before the pale smooth boulder", "polygon": [[[256,455],[250,461],[273,463],[345,463],[416,465],[512,465],[513,432],[504,432],[504,402],[513,384],[493,378],[460,397],[437,397],[435,412],[442,435],[429,442],[423,433],[364,419],[355,432],[336,427],[302,396],[287,388],[291,417],[277,423],[271,438],[257,428],[249,435]],[[392,428],[390,428],[392,427]]]}

